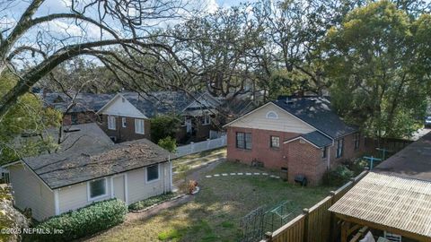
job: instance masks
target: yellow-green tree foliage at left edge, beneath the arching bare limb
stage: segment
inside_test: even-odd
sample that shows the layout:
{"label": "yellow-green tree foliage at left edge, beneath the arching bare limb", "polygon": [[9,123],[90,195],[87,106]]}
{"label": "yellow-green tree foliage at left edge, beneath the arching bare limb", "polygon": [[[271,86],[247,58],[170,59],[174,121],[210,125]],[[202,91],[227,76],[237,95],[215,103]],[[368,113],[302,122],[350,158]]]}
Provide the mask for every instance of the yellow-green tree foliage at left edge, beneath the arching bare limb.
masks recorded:
{"label": "yellow-green tree foliage at left edge, beneath the arching bare limb", "polygon": [[[13,73],[3,73],[0,78],[0,96],[12,89],[16,82]],[[0,118],[0,164],[55,148],[55,139],[42,133],[48,127],[57,127],[60,122],[61,114],[54,109],[44,108],[37,96],[31,93],[21,96]],[[20,138],[22,134],[32,137]]]}

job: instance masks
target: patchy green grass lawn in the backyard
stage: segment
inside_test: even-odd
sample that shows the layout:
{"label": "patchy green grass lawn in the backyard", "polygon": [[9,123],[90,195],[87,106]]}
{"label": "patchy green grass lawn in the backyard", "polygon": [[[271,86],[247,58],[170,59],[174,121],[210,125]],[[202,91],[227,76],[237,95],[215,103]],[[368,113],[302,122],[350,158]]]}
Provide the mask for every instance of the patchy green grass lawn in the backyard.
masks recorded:
{"label": "patchy green grass lawn in the backyard", "polygon": [[[223,162],[204,175],[244,171],[262,169]],[[124,223],[89,241],[237,241],[241,218],[257,207],[291,200],[309,208],[332,189],[293,186],[266,176],[203,176],[198,183],[201,190],[193,201],[148,220]]]}

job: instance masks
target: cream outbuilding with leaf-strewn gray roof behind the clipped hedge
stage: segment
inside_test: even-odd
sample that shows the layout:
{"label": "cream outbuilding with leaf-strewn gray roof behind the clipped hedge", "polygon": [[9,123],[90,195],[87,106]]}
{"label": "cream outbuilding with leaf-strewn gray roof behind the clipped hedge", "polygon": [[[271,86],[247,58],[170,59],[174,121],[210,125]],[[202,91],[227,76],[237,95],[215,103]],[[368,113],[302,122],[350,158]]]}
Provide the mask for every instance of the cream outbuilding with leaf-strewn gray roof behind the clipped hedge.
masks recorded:
{"label": "cream outbuilding with leaf-strewn gray roof behind the clipped hedge", "polygon": [[130,204],[172,191],[170,152],[146,139],[114,144],[84,132],[75,130],[74,148],[4,166],[16,207],[44,220],[114,197]]}

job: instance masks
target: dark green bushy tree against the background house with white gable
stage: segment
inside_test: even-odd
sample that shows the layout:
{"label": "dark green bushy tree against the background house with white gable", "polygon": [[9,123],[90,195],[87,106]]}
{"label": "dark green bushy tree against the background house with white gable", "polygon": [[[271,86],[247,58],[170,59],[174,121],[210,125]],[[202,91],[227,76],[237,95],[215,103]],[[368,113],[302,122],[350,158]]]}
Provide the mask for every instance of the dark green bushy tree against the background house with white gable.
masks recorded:
{"label": "dark green bushy tree against the background house with white gable", "polygon": [[159,143],[166,137],[175,137],[180,126],[180,118],[176,116],[156,116],[151,119],[151,140]]}

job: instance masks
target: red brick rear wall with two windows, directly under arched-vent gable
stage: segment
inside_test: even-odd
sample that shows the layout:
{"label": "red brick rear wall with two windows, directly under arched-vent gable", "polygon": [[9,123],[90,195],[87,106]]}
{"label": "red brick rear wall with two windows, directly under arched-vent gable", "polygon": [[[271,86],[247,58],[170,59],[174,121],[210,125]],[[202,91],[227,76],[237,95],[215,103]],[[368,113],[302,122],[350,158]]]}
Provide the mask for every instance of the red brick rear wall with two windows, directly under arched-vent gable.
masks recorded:
{"label": "red brick rear wall with two windows, directly under arched-vent gable", "polygon": [[[251,150],[236,148],[236,132],[251,133]],[[279,149],[269,147],[271,135],[280,137]],[[262,129],[227,127],[227,159],[240,160],[246,164],[251,164],[252,160],[259,160],[269,169],[287,168],[288,149],[283,141],[297,135]]]}

